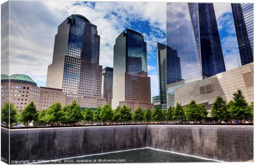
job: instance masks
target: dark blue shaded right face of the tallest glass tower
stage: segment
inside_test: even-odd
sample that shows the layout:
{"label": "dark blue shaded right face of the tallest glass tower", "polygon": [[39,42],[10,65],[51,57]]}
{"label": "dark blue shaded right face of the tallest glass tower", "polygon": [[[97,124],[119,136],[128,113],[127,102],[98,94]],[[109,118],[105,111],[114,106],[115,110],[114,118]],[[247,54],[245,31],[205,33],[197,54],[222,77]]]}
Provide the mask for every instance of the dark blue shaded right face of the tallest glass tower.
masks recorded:
{"label": "dark blue shaded right face of the tallest glass tower", "polygon": [[225,63],[213,4],[199,3],[198,10],[202,75],[210,77],[225,72]]}

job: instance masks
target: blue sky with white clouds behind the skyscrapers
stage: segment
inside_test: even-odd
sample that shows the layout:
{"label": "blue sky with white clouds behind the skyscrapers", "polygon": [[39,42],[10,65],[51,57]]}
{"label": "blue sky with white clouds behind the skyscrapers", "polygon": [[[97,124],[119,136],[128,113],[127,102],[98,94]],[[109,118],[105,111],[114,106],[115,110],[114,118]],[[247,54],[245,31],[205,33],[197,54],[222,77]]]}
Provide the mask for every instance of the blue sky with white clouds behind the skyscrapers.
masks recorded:
{"label": "blue sky with white clouds behind the skyscrapers", "polygon": [[[214,9],[226,70],[230,70],[238,66],[239,57],[231,5],[215,3]],[[97,26],[103,68],[113,67],[113,46],[120,33],[126,28],[142,33],[151,95],[159,94],[156,44],[166,42],[165,2],[10,1],[10,75],[25,74],[45,86],[57,28],[71,14],[81,14]]]}

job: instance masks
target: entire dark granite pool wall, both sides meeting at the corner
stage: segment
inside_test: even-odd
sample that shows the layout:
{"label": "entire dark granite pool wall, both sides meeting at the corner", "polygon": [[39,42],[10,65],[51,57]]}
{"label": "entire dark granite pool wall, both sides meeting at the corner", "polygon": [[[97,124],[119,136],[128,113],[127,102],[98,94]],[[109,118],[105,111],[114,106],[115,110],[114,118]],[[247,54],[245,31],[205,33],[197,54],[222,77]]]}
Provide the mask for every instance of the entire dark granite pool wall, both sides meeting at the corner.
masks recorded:
{"label": "entire dark granite pool wall, both sides meeting at the corner", "polygon": [[[3,129],[1,133],[6,134],[8,131]],[[10,130],[11,161],[32,163],[144,147],[222,161],[247,161],[253,159],[253,126],[123,125]]]}

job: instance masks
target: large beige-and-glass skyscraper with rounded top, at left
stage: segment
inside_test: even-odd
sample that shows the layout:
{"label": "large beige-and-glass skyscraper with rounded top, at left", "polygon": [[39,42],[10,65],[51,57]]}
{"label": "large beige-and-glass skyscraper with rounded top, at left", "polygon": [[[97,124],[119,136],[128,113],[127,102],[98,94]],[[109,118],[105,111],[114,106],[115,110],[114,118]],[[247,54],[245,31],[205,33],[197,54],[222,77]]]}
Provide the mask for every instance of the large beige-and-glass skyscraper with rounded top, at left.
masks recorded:
{"label": "large beige-and-glass skyscraper with rounded top, at left", "polygon": [[76,99],[96,108],[102,105],[102,66],[99,65],[100,36],[97,26],[84,16],[72,14],[58,27],[52,64],[48,66],[46,86],[66,92],[67,104]]}

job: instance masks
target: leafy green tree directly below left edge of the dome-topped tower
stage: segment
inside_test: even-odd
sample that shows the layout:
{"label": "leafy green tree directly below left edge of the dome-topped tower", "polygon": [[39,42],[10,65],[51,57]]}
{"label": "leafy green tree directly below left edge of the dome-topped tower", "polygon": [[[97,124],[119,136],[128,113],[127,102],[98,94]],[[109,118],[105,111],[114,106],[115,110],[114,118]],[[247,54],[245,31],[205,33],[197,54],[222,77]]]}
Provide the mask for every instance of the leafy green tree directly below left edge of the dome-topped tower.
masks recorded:
{"label": "leafy green tree directly below left edge of the dome-topped tower", "polygon": [[64,112],[62,111],[62,105],[60,102],[56,102],[49,106],[47,110],[47,120],[52,123],[59,123],[65,117]]}

